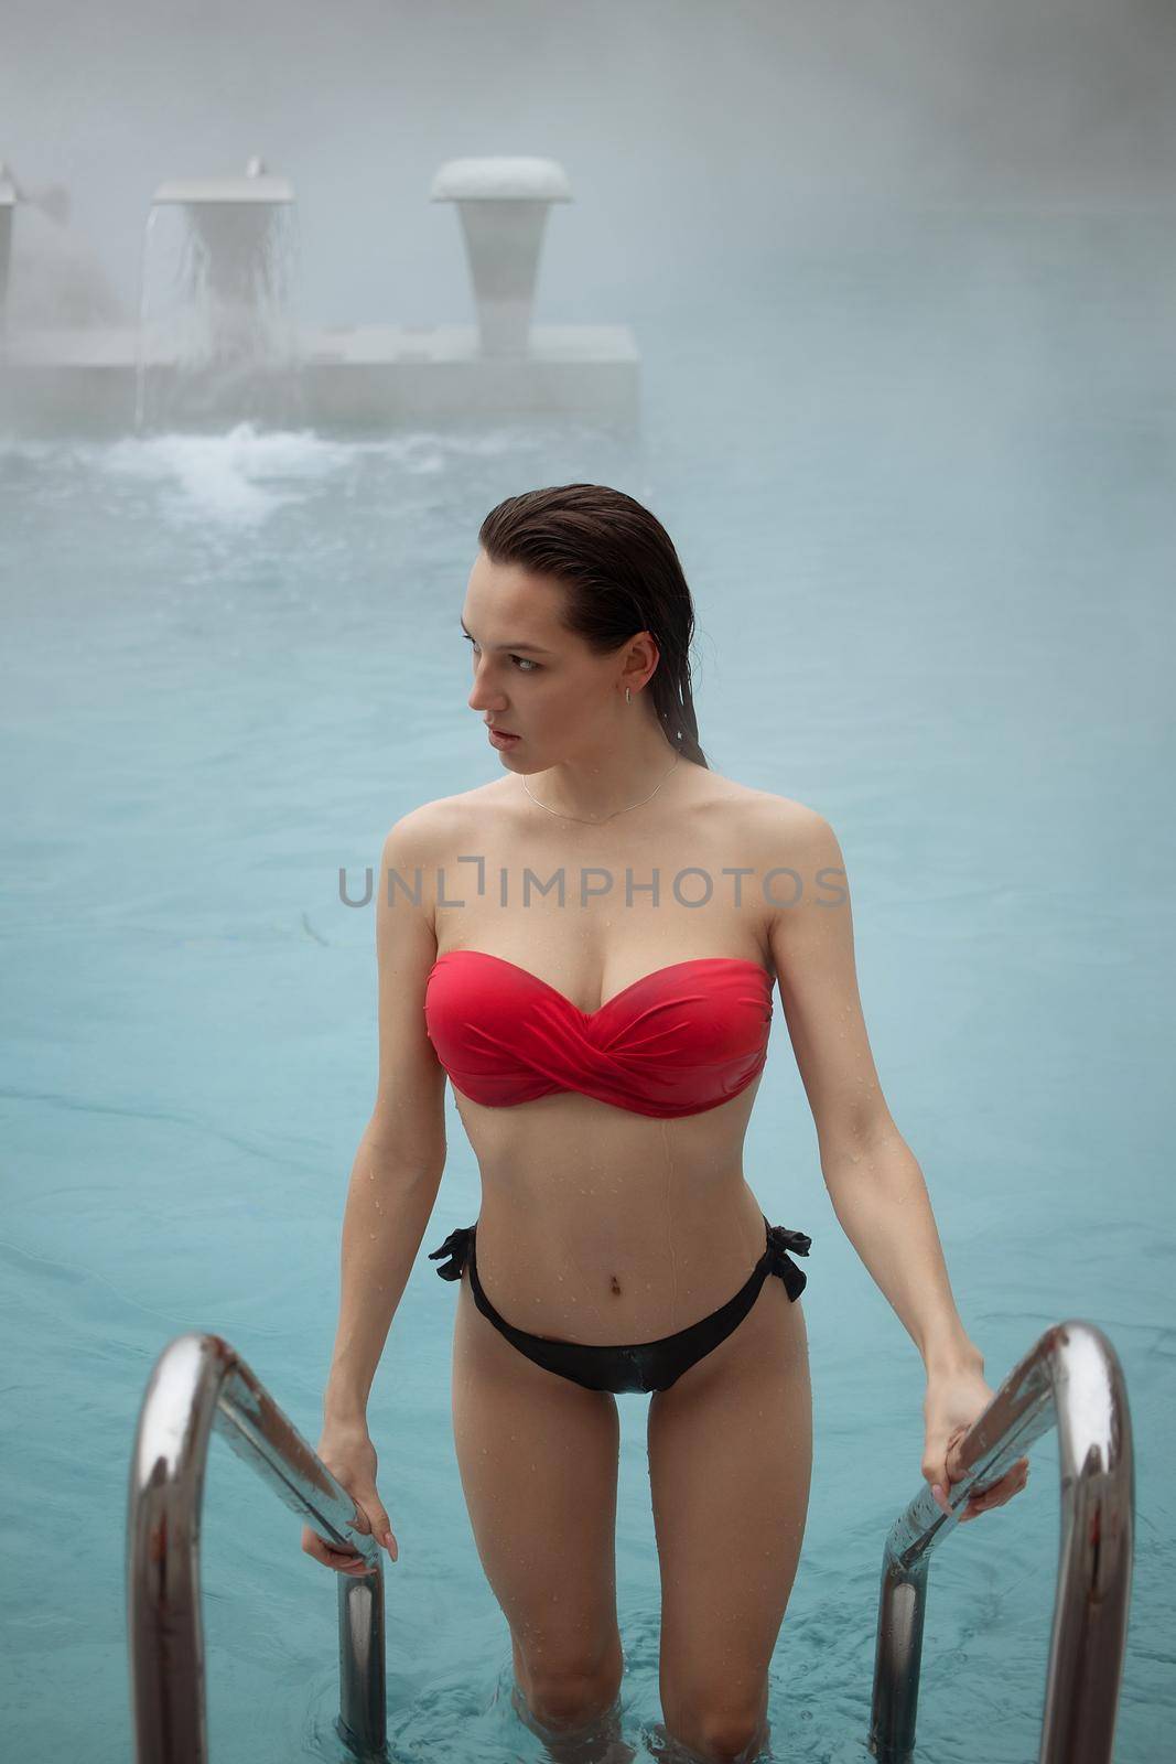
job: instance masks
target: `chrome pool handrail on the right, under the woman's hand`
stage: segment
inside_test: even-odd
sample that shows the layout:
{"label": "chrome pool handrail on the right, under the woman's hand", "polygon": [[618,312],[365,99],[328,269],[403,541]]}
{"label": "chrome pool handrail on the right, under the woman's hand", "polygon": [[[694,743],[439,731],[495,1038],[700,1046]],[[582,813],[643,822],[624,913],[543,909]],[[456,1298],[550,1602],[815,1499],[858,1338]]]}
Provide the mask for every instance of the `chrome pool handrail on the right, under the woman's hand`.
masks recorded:
{"label": "chrome pool handrail on the right, under the woman's hand", "polygon": [[1061,1552],[1038,1764],[1109,1764],[1132,1586],[1135,1452],[1114,1348],[1076,1319],[1046,1330],[961,1441],[952,1515],[924,1484],[890,1528],[869,1723],[882,1764],[913,1755],[931,1551],[956,1529],[973,1487],[998,1482],[1054,1424]]}

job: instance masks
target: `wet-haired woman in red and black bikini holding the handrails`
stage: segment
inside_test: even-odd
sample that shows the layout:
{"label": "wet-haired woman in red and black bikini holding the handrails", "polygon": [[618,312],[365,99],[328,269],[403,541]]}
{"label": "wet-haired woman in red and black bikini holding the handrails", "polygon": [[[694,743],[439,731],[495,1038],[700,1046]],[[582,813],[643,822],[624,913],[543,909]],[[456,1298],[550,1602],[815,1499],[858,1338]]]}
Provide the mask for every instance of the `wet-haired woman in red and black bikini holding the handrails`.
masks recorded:
{"label": "wet-haired woman in red and black bikini holding the handrails", "polygon": [[[457,1459],[515,1708],[577,1757],[615,1738],[615,1394],[649,1390],[666,1730],[686,1755],[753,1757],[811,1473],[809,1238],[769,1222],[741,1168],[774,979],[834,1210],[927,1369],[922,1473],[945,1512],[949,1448],[993,1390],[878,1085],[837,840],[707,766],[668,534],[577,483],[510,497],[478,538],[469,706],[502,776],[384,845],[379,1087],[319,1454],[395,1561],[365,1411],[434,1212],[448,1073],[481,1208],[430,1258],[460,1282]],[[310,1529],[303,1549],[363,1572]]]}

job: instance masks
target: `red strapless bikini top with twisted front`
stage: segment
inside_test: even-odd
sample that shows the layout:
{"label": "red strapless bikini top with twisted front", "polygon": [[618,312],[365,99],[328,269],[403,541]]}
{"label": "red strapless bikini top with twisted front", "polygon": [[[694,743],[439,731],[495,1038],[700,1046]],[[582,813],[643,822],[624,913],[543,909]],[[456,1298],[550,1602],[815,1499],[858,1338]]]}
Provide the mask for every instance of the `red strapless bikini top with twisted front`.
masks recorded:
{"label": "red strapless bikini top with twisted front", "polygon": [[702,1115],[763,1069],[772,975],[739,956],[695,956],[580,1011],[538,974],[481,949],[439,956],[425,1025],[453,1088],[506,1108],[554,1090],[636,1115]]}

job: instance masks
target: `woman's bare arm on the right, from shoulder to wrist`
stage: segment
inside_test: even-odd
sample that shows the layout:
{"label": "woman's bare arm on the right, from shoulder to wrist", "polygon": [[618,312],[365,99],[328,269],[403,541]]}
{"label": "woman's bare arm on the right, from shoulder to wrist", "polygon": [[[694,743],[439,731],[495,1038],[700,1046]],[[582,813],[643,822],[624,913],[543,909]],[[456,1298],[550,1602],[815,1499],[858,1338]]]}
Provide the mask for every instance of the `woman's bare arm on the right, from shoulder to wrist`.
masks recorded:
{"label": "woman's bare arm on the right, from shoulder to wrist", "polygon": [[862,1020],[853,917],[832,827],[800,803],[772,801],[770,947],[837,1221],[897,1312],[927,1374],[980,1372],[956,1309],[919,1162],[890,1118]]}

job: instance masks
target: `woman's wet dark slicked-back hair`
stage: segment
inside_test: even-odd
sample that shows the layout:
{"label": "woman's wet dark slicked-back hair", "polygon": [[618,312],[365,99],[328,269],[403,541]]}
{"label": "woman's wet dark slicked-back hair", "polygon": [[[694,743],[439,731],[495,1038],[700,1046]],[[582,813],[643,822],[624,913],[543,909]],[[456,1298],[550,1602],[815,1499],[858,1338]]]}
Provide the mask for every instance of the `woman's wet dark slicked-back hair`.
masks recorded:
{"label": "woman's wet dark slicked-back hair", "polygon": [[490,563],[555,577],[566,589],[561,624],[596,654],[649,632],[658,667],[645,690],[666,741],[709,767],[689,674],[695,603],[656,515],[605,483],[561,483],[508,496],[481,522],[478,543]]}

